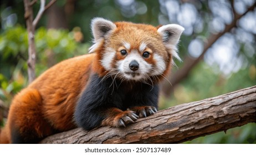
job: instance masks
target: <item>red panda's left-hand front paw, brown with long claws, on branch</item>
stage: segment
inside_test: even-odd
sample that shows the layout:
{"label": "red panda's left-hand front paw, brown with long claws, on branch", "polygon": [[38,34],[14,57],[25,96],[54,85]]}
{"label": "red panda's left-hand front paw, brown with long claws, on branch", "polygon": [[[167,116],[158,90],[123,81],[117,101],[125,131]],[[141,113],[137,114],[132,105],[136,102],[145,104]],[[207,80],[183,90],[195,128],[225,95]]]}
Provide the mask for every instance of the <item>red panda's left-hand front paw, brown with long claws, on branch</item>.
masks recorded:
{"label": "red panda's left-hand front paw, brown with long claws, on branch", "polygon": [[112,127],[126,127],[130,123],[134,123],[139,118],[134,111],[122,111],[110,115],[105,120],[103,120],[102,125],[112,126]]}

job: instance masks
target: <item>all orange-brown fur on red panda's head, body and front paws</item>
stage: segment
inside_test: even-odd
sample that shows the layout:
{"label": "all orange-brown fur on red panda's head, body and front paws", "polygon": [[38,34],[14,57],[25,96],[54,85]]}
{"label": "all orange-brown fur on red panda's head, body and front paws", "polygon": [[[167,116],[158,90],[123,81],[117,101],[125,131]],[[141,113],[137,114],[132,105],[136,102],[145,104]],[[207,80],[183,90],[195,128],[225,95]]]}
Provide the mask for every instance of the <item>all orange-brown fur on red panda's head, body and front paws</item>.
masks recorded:
{"label": "all orange-brown fur on red panda's head, body and front paws", "polygon": [[[122,40],[129,40],[131,49],[139,49],[145,40],[150,40],[146,50],[154,51],[161,55],[166,62],[166,70],[158,79],[162,79],[170,68],[172,55],[167,52],[162,44],[162,38],[157,33],[157,28],[151,25],[117,22],[116,30],[109,39],[113,49],[123,46]],[[147,33],[145,33],[147,32]],[[136,35],[136,39],[130,38]],[[17,94],[11,104],[8,121],[0,134],[0,143],[12,143],[11,135],[18,130],[23,137],[43,138],[55,132],[67,131],[75,128],[73,119],[76,102],[81,92],[86,88],[90,74],[97,73],[103,77],[107,71],[101,65],[105,49],[104,41],[99,44],[94,54],[78,56],[53,66],[40,75],[27,88]],[[152,54],[145,59],[150,64],[155,64]],[[117,55],[115,59],[123,59]],[[141,111],[148,107],[137,107],[132,111]],[[131,111],[121,111],[118,108],[109,108],[104,111],[107,118],[102,125],[116,126],[115,123],[125,115],[131,115]],[[31,137],[32,136],[32,137]]]}

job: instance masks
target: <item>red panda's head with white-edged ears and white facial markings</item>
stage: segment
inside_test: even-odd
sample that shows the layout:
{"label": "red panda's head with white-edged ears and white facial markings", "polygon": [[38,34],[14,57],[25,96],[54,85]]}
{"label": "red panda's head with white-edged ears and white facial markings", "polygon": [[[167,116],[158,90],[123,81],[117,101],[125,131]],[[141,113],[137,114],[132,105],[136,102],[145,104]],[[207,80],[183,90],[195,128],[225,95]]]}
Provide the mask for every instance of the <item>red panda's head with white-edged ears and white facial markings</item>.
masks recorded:
{"label": "red panda's head with white-edged ears and white facial markings", "polygon": [[161,79],[172,58],[180,59],[176,45],[184,28],[177,24],[159,28],[129,22],[112,23],[94,18],[91,23],[96,53],[93,69],[100,76],[122,80]]}

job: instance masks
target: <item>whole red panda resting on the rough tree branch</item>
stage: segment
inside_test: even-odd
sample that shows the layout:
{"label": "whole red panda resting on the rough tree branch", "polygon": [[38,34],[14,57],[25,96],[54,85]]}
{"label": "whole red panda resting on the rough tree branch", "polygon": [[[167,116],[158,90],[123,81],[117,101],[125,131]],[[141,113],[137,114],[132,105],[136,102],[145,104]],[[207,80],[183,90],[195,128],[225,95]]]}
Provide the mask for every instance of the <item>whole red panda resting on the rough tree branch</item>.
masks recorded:
{"label": "whole red panda resting on the rough tree branch", "polygon": [[91,22],[89,54],[64,60],[19,92],[0,143],[37,143],[82,127],[125,127],[157,112],[159,82],[178,58],[184,28],[103,18]]}

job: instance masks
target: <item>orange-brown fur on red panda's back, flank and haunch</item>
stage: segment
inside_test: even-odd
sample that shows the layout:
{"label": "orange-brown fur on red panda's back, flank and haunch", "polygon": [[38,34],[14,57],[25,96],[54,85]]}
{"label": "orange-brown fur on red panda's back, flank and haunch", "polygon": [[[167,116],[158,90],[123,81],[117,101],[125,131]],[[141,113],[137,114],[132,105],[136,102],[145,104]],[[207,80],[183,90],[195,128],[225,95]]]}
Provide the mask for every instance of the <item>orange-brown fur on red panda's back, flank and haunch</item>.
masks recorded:
{"label": "orange-brown fur on red panda's back, flank and haunch", "polygon": [[12,101],[0,143],[11,142],[11,128],[19,127],[28,136],[28,129],[32,129],[38,137],[45,137],[55,130],[76,127],[75,103],[86,85],[94,59],[95,54],[88,54],[62,61],[19,92]]}

